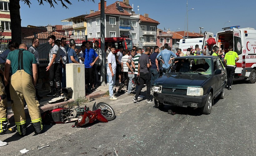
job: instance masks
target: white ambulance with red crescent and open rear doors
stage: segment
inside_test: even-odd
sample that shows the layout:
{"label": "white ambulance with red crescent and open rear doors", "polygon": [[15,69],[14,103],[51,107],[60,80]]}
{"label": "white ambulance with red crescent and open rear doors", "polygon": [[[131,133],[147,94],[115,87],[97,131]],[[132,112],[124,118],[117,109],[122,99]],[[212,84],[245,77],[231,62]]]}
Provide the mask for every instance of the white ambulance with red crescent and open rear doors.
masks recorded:
{"label": "white ambulance with red crescent and open rear doors", "polygon": [[[241,28],[240,26],[225,27],[215,37],[216,45],[220,50],[228,52],[228,47],[233,46],[239,61],[236,62],[235,76],[243,76],[249,83],[256,81],[256,30],[254,28]],[[208,34],[212,34],[207,32]],[[213,34],[212,34],[213,35]],[[207,43],[206,43],[207,44]],[[205,46],[205,42],[204,45]],[[209,49],[208,47],[208,50]]]}

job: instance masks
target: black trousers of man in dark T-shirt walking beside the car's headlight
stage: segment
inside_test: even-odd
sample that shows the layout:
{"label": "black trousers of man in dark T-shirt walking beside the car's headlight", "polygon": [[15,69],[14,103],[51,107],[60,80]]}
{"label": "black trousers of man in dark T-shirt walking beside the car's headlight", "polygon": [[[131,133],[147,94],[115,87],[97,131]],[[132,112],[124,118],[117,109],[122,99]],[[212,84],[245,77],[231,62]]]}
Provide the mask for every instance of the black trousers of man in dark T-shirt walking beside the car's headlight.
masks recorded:
{"label": "black trousers of man in dark T-shirt walking beside the car's headlight", "polygon": [[146,84],[147,87],[147,100],[150,100],[150,73],[140,73],[140,85],[136,92],[135,99],[138,99],[144,84]]}

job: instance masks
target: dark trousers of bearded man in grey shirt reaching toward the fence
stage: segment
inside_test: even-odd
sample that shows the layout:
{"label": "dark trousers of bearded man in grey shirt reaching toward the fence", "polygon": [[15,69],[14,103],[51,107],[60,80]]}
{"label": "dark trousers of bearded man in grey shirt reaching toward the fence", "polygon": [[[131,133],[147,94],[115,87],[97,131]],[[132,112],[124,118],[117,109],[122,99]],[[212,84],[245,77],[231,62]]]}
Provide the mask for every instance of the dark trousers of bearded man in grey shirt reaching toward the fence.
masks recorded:
{"label": "dark trousers of bearded man in grey shirt reaching toward the fence", "polygon": [[55,91],[55,82],[57,85],[57,93],[61,93],[61,66],[59,63],[54,63],[50,68],[50,86],[51,86],[51,93],[56,93]]}

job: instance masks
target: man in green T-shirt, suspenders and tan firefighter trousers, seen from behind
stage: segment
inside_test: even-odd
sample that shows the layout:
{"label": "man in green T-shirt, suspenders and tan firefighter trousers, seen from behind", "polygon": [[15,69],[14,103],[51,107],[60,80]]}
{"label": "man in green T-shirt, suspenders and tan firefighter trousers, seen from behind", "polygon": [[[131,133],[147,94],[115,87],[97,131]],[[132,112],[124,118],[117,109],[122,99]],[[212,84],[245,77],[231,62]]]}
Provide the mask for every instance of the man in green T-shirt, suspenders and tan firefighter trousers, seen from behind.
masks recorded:
{"label": "man in green T-shirt, suspenders and tan firefighter trousers, seen from behind", "polygon": [[27,51],[22,43],[19,49],[11,51],[7,56],[4,80],[8,84],[10,78],[10,94],[13,100],[12,110],[17,131],[21,136],[27,135],[26,115],[23,99],[27,102],[29,115],[36,134],[41,134],[43,125],[39,103],[36,100],[37,60]]}

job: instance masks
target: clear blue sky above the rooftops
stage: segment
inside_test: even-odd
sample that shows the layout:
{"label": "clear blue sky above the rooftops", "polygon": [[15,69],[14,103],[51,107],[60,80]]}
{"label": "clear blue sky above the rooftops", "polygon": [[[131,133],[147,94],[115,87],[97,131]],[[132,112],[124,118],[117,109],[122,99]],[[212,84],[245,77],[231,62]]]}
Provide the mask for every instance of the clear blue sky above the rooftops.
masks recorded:
{"label": "clear blue sky above the rooftops", "polygon": [[[58,1],[55,8],[50,8],[46,2],[44,5],[39,5],[35,0],[31,0],[30,8],[20,2],[22,26],[62,25],[60,21],[63,19],[89,13],[90,10],[98,11],[98,2],[100,2],[100,0],[95,0],[95,3],[87,0],[85,2],[70,1],[72,5],[67,4],[68,9],[63,8]],[[107,5],[115,1],[106,0]],[[170,28],[171,31],[175,31],[180,28],[179,31],[184,31],[184,28],[187,27],[185,26],[187,0],[130,0],[129,3],[131,6],[133,4],[135,13],[138,13],[137,6],[139,6],[141,15],[148,13],[150,18],[159,21],[158,28],[162,30]],[[189,0],[188,10],[191,8],[194,10],[188,12],[188,30],[199,32],[199,27],[204,27],[202,32],[209,31],[216,34],[222,31],[221,28],[227,21],[231,22],[227,22],[225,27],[239,25],[240,28],[256,29],[255,6],[256,0]]]}

